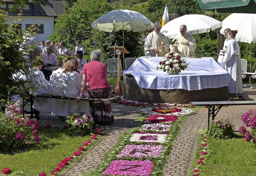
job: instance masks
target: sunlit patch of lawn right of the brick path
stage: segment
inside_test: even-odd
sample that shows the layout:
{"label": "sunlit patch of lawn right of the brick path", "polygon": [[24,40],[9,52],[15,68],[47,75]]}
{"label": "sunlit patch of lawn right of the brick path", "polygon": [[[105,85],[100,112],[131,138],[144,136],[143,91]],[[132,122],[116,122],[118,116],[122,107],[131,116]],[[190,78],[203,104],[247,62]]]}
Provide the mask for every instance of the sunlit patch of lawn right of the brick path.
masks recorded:
{"label": "sunlit patch of lawn right of the brick path", "polygon": [[[208,138],[208,156],[204,161],[200,176],[255,176],[256,145],[246,142],[242,136],[232,139]],[[201,141],[202,142],[202,141]],[[201,143],[200,142],[200,143]],[[200,158],[198,149],[193,165]],[[194,168],[192,168],[194,170]],[[190,170],[190,173],[192,173]]]}

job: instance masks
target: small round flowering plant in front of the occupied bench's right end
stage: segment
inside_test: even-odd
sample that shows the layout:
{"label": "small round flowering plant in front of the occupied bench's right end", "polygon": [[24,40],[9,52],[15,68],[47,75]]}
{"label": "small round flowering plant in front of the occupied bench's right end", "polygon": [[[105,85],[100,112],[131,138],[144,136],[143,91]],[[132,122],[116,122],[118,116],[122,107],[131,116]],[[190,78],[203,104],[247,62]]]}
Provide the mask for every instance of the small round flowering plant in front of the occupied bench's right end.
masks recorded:
{"label": "small round flowering plant in front of the occupied bench's right end", "polygon": [[84,113],[80,116],[78,113],[74,113],[67,117],[66,123],[68,129],[73,135],[86,136],[92,131],[93,118],[91,115]]}

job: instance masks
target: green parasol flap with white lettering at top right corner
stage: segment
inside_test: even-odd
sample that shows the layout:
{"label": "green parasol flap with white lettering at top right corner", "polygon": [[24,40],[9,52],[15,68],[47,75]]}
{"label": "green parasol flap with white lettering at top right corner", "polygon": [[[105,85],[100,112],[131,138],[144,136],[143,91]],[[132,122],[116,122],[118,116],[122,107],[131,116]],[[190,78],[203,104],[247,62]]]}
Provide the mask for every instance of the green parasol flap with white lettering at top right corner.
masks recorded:
{"label": "green parasol flap with white lettering at top right corner", "polygon": [[197,0],[197,2],[202,10],[206,10],[247,6],[250,0]]}

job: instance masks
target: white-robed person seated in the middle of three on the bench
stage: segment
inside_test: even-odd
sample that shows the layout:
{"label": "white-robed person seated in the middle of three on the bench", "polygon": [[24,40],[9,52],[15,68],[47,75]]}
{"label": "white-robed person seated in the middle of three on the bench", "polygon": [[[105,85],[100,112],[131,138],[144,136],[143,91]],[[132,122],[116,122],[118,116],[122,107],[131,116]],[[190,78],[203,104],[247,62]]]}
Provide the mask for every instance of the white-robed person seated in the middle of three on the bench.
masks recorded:
{"label": "white-robed person seated in the middle of three on the bench", "polygon": [[[52,71],[50,80],[47,83],[47,93],[52,96],[65,97],[64,87],[62,84],[62,72],[68,62],[68,58],[63,60],[62,67]],[[71,107],[74,101],[68,99],[52,99],[52,115],[61,116],[60,118],[72,115]]]}

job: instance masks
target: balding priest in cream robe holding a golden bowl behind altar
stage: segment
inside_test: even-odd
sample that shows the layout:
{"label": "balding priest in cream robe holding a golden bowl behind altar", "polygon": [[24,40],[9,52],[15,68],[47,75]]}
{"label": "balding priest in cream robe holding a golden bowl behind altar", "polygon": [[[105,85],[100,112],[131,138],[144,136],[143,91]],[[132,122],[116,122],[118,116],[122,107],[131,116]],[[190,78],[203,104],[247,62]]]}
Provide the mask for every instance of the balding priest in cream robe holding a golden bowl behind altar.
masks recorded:
{"label": "balding priest in cream robe holding a golden bowl behind altar", "polygon": [[[196,41],[193,36],[188,34],[187,26],[182,24],[180,26],[180,34],[176,35],[173,41],[178,43],[177,53],[185,55],[187,57],[195,57]],[[170,50],[175,51],[174,44],[170,47]]]}

